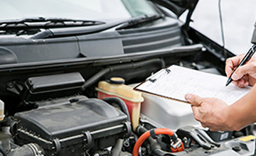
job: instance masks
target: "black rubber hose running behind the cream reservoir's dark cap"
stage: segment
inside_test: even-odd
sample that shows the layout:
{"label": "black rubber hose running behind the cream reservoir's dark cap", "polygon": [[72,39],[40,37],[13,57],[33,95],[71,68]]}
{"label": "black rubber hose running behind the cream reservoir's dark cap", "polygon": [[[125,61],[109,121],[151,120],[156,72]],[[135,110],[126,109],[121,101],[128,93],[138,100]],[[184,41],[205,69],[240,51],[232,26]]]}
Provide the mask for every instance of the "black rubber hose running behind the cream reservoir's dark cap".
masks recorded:
{"label": "black rubber hose running behind the cream reservoir's dark cap", "polygon": [[151,60],[146,60],[146,61],[141,61],[141,62],[134,62],[134,63],[127,63],[123,65],[113,65],[109,66],[105,69],[102,69],[100,72],[97,72],[97,74],[93,75],[90,79],[88,79],[85,84],[82,85],[82,91],[84,91],[87,87],[90,87],[92,84],[97,82],[101,77],[103,77],[105,74],[109,72],[113,72],[116,70],[122,70],[122,69],[134,69],[137,67],[144,67],[146,65],[150,64],[160,64],[161,68],[165,67],[164,60],[156,58],[156,59],[151,59]]}

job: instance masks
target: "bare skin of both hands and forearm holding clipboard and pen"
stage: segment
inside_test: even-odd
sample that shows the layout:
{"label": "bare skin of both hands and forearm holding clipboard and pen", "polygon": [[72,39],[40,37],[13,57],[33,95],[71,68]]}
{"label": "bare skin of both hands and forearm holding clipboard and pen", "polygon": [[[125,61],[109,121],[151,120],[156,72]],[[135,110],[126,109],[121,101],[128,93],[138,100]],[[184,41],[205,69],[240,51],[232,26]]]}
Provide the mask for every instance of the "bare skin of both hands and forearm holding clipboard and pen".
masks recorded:
{"label": "bare skin of both hands and forearm holding clipboard and pen", "polygon": [[[231,57],[226,61],[225,72],[228,77],[238,67],[244,55]],[[185,99],[191,104],[194,117],[203,127],[210,130],[240,130],[256,122],[256,58],[252,57],[233,74],[233,84],[237,87],[252,86],[248,94],[228,106],[215,98],[201,98],[186,94]]]}

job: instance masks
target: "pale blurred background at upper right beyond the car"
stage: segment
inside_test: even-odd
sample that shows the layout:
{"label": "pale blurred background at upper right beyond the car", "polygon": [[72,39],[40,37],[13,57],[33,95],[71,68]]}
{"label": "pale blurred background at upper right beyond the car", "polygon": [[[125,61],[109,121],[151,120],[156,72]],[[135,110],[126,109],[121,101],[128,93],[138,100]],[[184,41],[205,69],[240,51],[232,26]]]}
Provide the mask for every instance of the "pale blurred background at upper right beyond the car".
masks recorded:
{"label": "pale blurred background at upper right beyond the car", "polygon": [[[219,0],[200,0],[191,26],[223,45],[220,30]],[[256,0],[221,0],[225,48],[236,55],[247,52],[256,21]],[[184,16],[181,17],[184,19]]]}

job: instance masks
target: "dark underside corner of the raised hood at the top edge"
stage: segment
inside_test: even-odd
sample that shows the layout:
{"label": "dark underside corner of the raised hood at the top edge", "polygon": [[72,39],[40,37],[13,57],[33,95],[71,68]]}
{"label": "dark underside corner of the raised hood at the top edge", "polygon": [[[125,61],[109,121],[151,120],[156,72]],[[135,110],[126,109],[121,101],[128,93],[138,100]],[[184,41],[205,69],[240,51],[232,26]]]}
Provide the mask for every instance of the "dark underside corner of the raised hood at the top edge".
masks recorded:
{"label": "dark underside corner of the raised hood at the top edge", "polygon": [[173,11],[178,17],[181,14],[188,10],[192,10],[195,8],[198,0],[151,0],[156,4],[161,6],[165,6],[166,8]]}

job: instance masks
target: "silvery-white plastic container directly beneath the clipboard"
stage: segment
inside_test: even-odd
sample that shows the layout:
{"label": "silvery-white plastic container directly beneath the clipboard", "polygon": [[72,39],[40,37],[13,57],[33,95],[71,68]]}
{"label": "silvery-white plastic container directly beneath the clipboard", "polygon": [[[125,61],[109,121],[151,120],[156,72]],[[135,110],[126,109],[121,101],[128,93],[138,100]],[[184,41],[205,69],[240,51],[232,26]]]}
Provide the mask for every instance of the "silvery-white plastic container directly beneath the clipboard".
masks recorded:
{"label": "silvery-white plastic container directly beneath the clipboard", "polygon": [[177,130],[183,126],[200,126],[193,117],[190,104],[161,98],[150,94],[142,94],[141,118],[151,121],[157,127]]}

